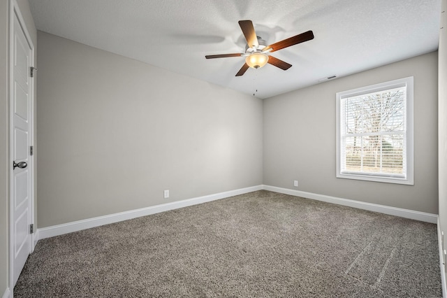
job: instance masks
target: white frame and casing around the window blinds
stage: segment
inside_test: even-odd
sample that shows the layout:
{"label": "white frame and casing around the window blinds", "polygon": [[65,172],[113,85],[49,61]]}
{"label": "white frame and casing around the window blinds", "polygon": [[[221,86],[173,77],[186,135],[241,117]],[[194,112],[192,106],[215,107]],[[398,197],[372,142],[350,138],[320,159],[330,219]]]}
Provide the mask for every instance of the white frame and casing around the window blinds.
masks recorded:
{"label": "white frame and casing around the window blinds", "polygon": [[[384,183],[399,183],[406,185],[414,185],[414,155],[413,155],[413,77],[401,78],[398,80],[392,80],[385,83],[380,83],[376,85],[369,85],[367,87],[360,87],[353,90],[346,90],[343,92],[337,92],[337,125],[336,125],[336,135],[337,135],[337,178],[347,178],[356,180],[368,180],[375,182]],[[406,173],[404,177],[396,177],[393,175],[387,176],[376,175],[371,173],[352,173],[342,171],[342,161],[343,161],[343,150],[342,150],[342,126],[344,125],[344,120],[342,119],[342,99],[349,97],[356,97],[362,94],[369,94],[372,92],[381,92],[385,90],[394,89],[396,87],[406,87],[406,113],[405,113],[405,136],[406,136],[406,156],[404,156],[404,161],[406,162]]]}

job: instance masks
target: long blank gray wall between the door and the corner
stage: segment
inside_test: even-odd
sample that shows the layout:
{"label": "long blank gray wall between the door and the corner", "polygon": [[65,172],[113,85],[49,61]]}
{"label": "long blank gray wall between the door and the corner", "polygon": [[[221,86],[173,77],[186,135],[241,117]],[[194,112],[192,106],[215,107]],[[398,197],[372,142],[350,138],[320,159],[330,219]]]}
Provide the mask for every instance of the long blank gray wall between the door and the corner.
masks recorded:
{"label": "long blank gray wall between the door and the corner", "polygon": [[38,227],[262,184],[261,99],[41,31],[38,47]]}

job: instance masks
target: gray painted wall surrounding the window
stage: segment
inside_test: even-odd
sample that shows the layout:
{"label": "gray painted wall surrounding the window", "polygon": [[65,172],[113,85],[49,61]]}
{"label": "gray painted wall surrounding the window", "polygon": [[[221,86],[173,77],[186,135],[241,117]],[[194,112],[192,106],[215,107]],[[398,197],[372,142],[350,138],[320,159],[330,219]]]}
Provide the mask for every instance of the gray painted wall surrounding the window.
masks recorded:
{"label": "gray painted wall surrounding the window", "polygon": [[[335,93],[408,76],[415,92],[414,185],[335,178]],[[265,99],[263,183],[437,214],[437,87],[432,52]]]}

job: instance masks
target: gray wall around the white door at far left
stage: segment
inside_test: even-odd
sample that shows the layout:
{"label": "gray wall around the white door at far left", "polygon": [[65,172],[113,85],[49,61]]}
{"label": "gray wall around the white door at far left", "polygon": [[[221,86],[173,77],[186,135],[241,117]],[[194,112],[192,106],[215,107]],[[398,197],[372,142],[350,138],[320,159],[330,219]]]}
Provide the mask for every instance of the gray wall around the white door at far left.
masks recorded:
{"label": "gray wall around the white door at far left", "polygon": [[[0,1],[0,295],[3,295],[9,285],[9,3],[10,1]],[[17,3],[34,47],[36,47],[37,31],[31,10],[29,10],[29,3],[27,0],[17,0]],[[36,199],[36,197],[34,198]]]}

